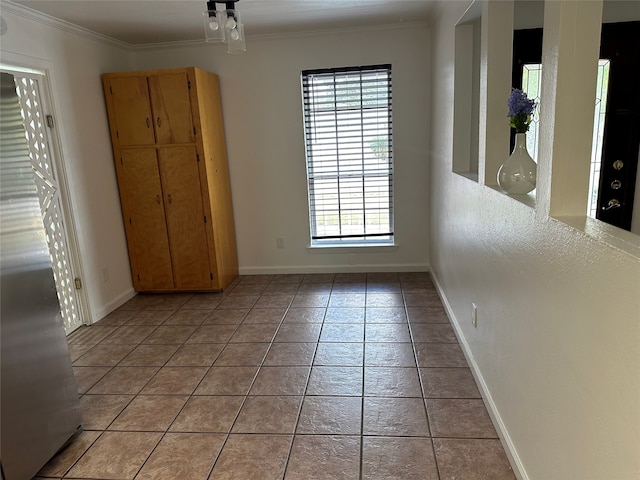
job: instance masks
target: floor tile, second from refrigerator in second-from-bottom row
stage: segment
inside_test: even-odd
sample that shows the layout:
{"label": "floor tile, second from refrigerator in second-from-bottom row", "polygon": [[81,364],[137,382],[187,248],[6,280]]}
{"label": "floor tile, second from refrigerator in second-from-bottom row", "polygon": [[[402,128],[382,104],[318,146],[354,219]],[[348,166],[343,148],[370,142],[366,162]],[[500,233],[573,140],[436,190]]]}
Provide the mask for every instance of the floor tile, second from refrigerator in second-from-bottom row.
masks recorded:
{"label": "floor tile, second from refrigerator in second-from-bottom row", "polygon": [[176,418],[186,395],[138,395],[109,426],[109,430],[164,432]]}

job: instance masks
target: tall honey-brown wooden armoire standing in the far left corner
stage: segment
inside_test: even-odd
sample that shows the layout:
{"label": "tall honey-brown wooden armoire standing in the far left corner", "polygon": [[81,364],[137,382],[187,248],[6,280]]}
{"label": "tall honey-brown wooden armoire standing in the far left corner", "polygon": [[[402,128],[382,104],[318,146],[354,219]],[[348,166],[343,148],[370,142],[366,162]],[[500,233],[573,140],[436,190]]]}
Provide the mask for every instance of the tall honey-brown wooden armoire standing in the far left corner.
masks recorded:
{"label": "tall honey-brown wooden armoire standing in the far left corner", "polygon": [[238,275],[218,76],[102,75],[136,291],[218,291]]}

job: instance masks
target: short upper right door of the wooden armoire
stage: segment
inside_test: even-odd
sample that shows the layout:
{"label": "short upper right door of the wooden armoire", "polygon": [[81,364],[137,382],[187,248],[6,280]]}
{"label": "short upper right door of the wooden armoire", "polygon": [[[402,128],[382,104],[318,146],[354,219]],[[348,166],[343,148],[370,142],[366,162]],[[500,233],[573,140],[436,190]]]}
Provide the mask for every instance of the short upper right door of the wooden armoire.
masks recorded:
{"label": "short upper right door of the wooden armoire", "polygon": [[158,144],[193,143],[193,120],[186,73],[149,77],[153,121]]}

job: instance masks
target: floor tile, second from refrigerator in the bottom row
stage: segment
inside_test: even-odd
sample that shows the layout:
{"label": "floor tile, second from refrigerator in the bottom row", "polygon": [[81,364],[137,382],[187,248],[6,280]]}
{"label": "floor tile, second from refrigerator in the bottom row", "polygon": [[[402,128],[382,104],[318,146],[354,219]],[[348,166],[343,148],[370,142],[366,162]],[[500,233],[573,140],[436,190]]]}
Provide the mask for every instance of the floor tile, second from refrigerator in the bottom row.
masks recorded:
{"label": "floor tile, second from refrigerator in the bottom row", "polygon": [[158,432],[105,432],[69,471],[68,477],[133,479],[161,437]]}

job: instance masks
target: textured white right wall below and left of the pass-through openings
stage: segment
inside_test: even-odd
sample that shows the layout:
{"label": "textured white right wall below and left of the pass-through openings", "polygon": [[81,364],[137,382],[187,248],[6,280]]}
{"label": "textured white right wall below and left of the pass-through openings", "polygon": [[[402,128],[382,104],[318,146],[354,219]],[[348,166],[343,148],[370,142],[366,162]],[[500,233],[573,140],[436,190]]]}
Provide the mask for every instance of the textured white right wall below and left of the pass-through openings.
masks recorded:
{"label": "textured white right wall below and left of the pass-through openings", "polygon": [[540,192],[531,207],[451,173],[454,25],[468,5],[439,3],[431,26],[432,272],[518,475],[638,479],[640,261],[551,218]]}

